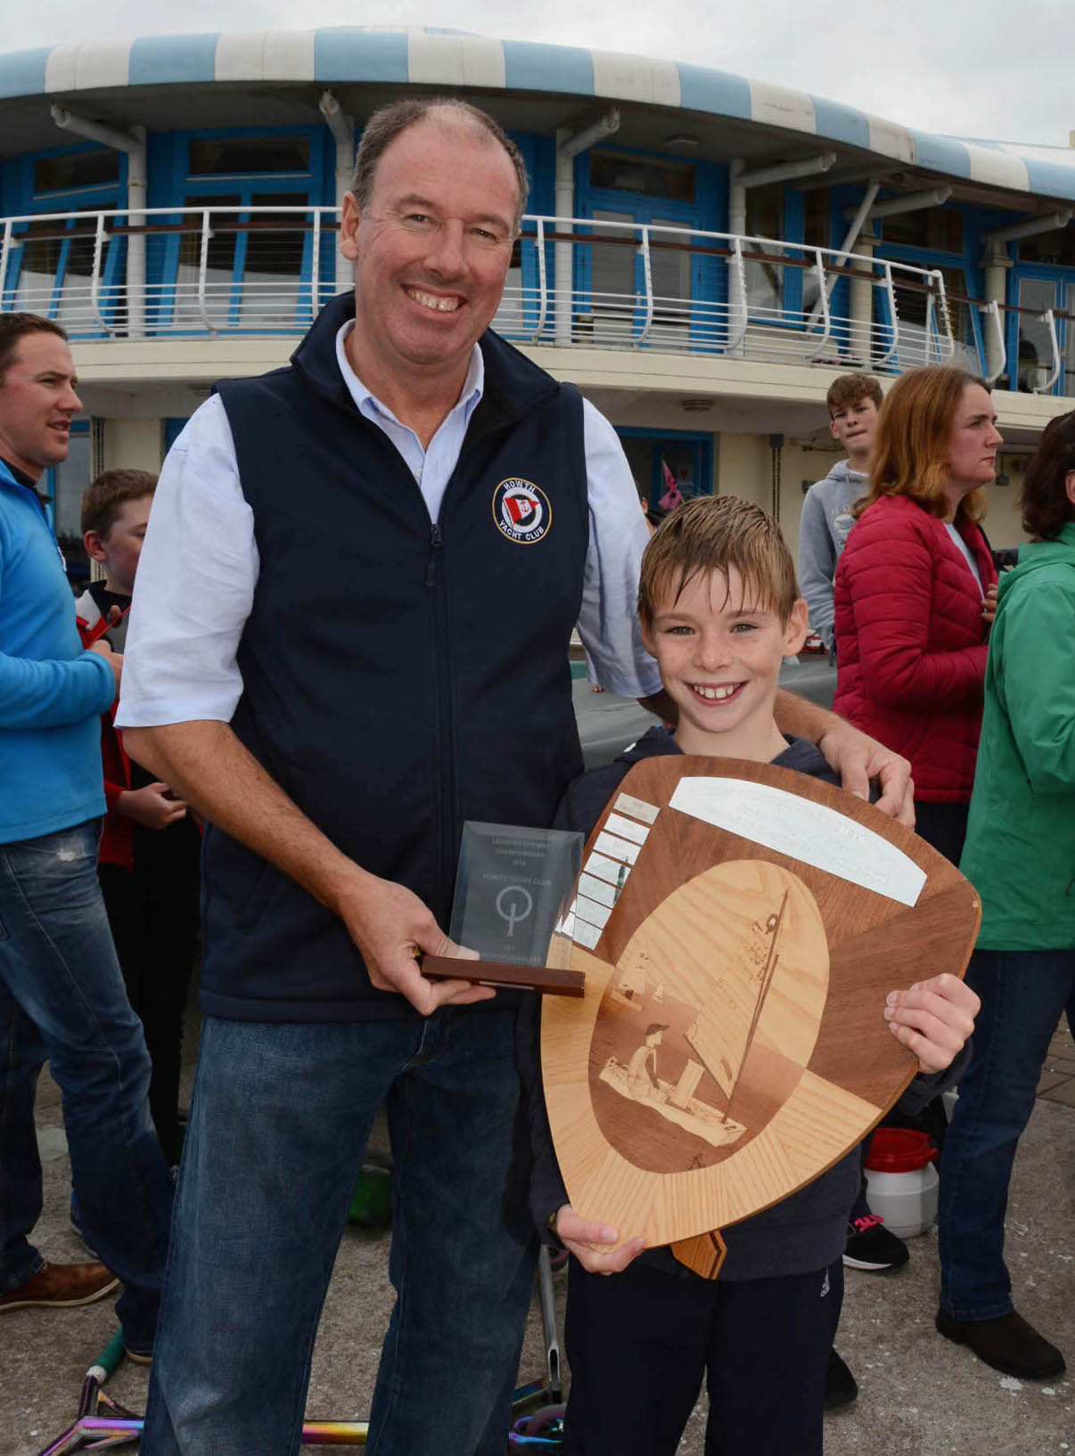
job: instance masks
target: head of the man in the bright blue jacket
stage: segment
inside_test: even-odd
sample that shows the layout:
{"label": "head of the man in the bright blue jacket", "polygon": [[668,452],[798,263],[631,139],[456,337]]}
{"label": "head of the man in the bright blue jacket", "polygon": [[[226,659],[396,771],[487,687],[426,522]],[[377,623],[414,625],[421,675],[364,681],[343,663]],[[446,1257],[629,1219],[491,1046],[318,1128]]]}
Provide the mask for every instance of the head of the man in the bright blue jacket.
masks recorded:
{"label": "head of the man in the bright blue jacket", "polygon": [[82,414],[71,351],[57,333],[23,333],[0,383],[0,456],[39,479],[67,459],[71,421]]}

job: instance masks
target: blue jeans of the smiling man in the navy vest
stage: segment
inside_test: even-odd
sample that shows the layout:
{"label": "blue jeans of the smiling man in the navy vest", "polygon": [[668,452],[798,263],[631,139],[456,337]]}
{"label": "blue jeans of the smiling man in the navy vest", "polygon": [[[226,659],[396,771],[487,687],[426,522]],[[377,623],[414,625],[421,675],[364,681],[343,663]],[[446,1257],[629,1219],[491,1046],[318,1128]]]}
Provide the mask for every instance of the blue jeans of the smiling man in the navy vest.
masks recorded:
{"label": "blue jeans of the smiling man in the navy vest", "polygon": [[205,1019],[143,1456],[299,1450],[318,1321],[382,1104],[396,1303],[366,1450],[503,1456],[536,1259],[507,1008]]}

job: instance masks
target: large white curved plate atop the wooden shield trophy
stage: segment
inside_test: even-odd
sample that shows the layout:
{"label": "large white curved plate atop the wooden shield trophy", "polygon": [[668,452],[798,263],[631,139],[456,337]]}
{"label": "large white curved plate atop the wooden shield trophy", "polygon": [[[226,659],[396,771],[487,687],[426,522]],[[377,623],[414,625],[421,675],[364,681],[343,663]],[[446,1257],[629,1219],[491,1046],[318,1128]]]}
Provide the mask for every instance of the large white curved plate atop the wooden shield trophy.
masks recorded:
{"label": "large white curved plate atop the wooden shield trophy", "polygon": [[823,804],[746,779],[680,779],[669,807],[766,849],[913,906],[924,869],[871,828]]}

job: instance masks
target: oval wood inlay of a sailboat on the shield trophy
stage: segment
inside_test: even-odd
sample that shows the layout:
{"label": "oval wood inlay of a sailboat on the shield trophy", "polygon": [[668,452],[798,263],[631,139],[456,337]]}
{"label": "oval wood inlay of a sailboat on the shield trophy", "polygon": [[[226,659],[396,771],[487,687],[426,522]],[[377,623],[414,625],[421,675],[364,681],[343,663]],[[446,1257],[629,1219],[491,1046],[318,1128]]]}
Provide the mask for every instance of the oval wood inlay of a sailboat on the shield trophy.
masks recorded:
{"label": "oval wood inlay of a sailboat on the shield trophy", "polygon": [[609,1142],[642,1168],[683,1166],[688,1150],[689,1166],[717,1160],[810,1061],[827,984],[822,916],[791,871],[747,859],[688,881],[635,930],[597,1016],[591,1091]]}

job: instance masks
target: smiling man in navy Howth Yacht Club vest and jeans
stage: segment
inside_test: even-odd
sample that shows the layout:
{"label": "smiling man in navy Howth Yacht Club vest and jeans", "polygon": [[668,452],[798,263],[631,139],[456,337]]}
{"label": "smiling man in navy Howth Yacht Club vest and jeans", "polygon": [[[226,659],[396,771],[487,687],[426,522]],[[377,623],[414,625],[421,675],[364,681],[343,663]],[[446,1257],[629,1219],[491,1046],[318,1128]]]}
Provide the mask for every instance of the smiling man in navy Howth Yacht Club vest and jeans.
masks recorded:
{"label": "smiling man in navy Howth Yacht Club vest and jeans", "polygon": [[299,1450],[382,1104],[398,1300],[367,1449],[504,1452],[535,1261],[516,1000],[417,955],[456,949],[463,821],[549,826],[581,770],[572,625],[613,692],[660,687],[616,434],[489,328],[526,186],[472,106],[373,115],[354,290],[165,462],[118,721],[210,824],[207,1015],[144,1456]]}

